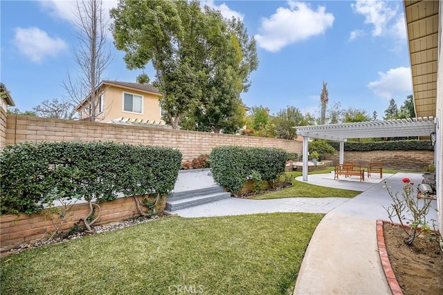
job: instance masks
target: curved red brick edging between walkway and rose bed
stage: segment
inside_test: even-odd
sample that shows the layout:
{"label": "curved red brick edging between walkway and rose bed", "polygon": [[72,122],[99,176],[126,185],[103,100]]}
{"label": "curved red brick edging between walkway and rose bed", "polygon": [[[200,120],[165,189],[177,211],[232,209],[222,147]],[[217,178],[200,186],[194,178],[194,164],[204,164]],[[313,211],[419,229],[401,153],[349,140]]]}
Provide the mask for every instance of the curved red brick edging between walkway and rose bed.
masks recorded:
{"label": "curved red brick edging between walkway and rose bed", "polygon": [[388,280],[392,295],[404,295],[403,291],[401,291],[399,282],[397,282],[397,278],[395,278],[394,271],[392,271],[392,267],[390,266],[388,253],[386,252],[385,236],[383,234],[383,222],[388,221],[377,219],[377,245],[379,246],[381,266],[383,267],[383,272],[385,273],[386,280]]}

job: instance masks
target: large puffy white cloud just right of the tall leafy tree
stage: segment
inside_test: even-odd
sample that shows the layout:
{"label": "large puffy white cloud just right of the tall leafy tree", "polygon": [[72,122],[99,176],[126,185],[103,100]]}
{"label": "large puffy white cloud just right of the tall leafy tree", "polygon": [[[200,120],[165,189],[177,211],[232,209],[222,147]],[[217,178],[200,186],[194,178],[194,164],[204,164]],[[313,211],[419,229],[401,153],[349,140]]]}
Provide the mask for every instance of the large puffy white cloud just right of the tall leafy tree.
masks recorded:
{"label": "large puffy white cloud just right of the tall leafy tree", "polygon": [[284,46],[320,35],[332,27],[334,15],[325,6],[311,10],[307,4],[289,0],[289,8],[280,7],[269,18],[262,19],[257,44],[265,50],[277,52]]}

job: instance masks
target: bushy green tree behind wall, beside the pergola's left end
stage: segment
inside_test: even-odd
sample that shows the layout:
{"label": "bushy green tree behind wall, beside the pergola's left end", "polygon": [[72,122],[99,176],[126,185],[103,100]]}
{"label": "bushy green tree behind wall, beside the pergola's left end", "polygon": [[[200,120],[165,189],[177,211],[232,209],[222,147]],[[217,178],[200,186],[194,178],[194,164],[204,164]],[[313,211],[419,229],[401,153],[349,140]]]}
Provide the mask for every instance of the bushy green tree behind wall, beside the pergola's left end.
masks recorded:
{"label": "bushy green tree behind wall, beside the pergola's left end", "polygon": [[295,139],[297,131],[293,127],[305,124],[304,119],[303,114],[295,106],[287,106],[278,111],[277,115],[271,117],[275,137],[284,140]]}

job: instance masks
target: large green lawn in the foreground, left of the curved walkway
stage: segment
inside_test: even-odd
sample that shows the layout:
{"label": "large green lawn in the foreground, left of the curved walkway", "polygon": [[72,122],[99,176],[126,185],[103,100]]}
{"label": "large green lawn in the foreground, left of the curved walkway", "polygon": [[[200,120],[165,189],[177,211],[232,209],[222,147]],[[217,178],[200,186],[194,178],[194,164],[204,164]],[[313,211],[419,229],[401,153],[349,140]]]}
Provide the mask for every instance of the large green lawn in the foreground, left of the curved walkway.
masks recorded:
{"label": "large green lawn in the foreground, left of the curved walkway", "polygon": [[163,218],[6,256],[0,291],[291,294],[321,218],[311,213]]}

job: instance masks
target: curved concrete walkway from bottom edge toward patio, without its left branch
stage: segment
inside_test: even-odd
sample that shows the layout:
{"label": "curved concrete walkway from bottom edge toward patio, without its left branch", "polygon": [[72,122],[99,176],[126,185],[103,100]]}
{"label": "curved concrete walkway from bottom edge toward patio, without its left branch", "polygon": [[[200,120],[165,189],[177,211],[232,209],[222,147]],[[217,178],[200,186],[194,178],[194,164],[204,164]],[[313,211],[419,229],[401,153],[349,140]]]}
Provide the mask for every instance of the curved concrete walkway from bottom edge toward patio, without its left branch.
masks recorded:
{"label": "curved concrete walkway from bottom edge toward patio, without its left branch", "polygon": [[[309,175],[308,182],[315,181]],[[397,173],[386,179],[393,193],[402,178],[422,182],[421,173]],[[384,182],[373,185],[326,214],[303,258],[294,294],[391,294],[377,247],[377,219],[388,220],[391,203]],[[433,201],[433,207],[437,204]],[[436,218],[431,209],[429,218]]]}

